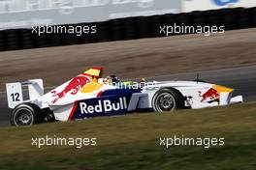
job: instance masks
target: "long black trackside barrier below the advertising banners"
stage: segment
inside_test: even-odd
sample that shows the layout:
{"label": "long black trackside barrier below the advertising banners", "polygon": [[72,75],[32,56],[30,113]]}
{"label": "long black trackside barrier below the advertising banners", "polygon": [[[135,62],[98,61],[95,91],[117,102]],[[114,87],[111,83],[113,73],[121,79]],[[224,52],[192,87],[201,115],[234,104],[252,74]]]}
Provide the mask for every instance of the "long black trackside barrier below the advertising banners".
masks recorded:
{"label": "long black trackside barrier below the advertising banners", "polygon": [[[236,8],[112,19],[105,22],[80,23],[71,26],[96,26],[95,34],[32,34],[32,29],[0,31],[0,51],[92,42],[112,42],[163,37],[160,25],[225,26],[225,31],[256,27],[256,8]],[[66,25],[69,26],[69,25]],[[170,35],[172,36],[172,35]]]}

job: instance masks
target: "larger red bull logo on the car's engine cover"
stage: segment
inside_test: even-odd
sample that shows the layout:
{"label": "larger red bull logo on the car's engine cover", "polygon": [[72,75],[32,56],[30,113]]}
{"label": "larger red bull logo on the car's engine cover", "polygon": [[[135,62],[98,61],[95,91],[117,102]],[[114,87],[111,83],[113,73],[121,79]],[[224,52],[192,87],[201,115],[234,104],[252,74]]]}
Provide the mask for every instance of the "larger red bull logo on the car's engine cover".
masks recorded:
{"label": "larger red bull logo on the car's engine cover", "polygon": [[79,75],[73,78],[68,85],[61,92],[57,93],[56,91],[52,91],[52,97],[56,97],[51,102],[55,103],[58,99],[62,99],[66,96],[66,94],[70,93],[71,95],[76,95],[82,87],[90,82],[90,78],[85,75]]}

